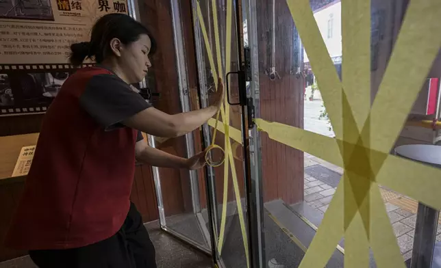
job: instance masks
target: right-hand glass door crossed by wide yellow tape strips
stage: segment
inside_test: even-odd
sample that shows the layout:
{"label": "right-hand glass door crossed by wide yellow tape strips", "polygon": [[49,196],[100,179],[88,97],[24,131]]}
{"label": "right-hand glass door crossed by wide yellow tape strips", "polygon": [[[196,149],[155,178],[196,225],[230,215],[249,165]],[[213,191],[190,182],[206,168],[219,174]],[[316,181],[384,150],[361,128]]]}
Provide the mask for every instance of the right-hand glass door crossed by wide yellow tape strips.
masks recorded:
{"label": "right-hand glass door crossed by wide yellow tape strips", "polygon": [[251,263],[433,267],[439,1],[242,3],[255,116],[249,215],[259,225]]}

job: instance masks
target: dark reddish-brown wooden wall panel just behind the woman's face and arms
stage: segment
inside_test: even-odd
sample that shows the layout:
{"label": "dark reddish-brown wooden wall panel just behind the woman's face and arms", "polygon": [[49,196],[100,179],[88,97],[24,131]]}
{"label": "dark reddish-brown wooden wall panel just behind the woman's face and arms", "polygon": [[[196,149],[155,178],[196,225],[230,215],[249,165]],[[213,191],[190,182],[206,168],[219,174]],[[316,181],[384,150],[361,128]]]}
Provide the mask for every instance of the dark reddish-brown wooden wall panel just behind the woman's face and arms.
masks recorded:
{"label": "dark reddish-brown wooden wall panel just behind the woman's face and arms", "polygon": [[[166,113],[179,113],[179,81],[176,69],[173,26],[169,1],[142,1],[140,18],[152,32],[157,42],[157,51],[151,62],[155,73],[156,91],[160,98],[153,103],[155,108]],[[162,148],[162,147],[161,147]],[[171,140],[171,146],[162,148],[173,155],[186,155],[185,139]],[[166,215],[192,210],[190,181],[187,170],[160,169],[162,197]],[[178,193],[179,191],[180,193]]]}

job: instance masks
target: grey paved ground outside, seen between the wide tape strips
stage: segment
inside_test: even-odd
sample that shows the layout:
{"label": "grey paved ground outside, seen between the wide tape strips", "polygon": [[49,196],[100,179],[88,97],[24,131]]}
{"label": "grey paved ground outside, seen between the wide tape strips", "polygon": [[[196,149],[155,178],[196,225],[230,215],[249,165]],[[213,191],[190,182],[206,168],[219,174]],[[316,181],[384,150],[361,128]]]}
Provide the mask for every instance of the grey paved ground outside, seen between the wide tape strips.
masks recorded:
{"label": "grey paved ground outside, seen between the wide tape strips", "polygon": [[[343,173],[343,169],[331,163],[327,163],[322,159],[318,159],[312,155],[305,153],[305,167],[313,165],[322,165],[338,174]],[[329,203],[331,202],[333,193],[336,188],[331,187],[318,178],[314,178],[305,174],[305,202],[323,213],[326,212]],[[385,202],[386,211],[388,212],[392,228],[394,229],[396,239],[398,241],[401,254],[405,260],[412,255],[412,246],[414,243],[414,231],[416,223],[416,208],[418,202],[395,193],[386,188],[380,189],[381,196]],[[440,221],[441,223],[441,221]],[[441,227],[438,226],[436,241],[441,241]]]}

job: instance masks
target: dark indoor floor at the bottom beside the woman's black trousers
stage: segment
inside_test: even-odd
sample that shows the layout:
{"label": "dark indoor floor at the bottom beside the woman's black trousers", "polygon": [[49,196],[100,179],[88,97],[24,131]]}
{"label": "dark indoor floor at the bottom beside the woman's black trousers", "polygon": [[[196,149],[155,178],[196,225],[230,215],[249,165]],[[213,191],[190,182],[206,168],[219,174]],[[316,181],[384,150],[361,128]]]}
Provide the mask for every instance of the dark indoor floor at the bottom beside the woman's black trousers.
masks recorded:
{"label": "dark indoor floor at the bottom beside the woman's black trousers", "polygon": [[[158,268],[209,268],[211,260],[208,256],[192,250],[187,245],[173,239],[160,230],[157,222],[146,224],[151,241],[156,248]],[[36,268],[29,257],[16,258],[0,263],[0,268]]]}

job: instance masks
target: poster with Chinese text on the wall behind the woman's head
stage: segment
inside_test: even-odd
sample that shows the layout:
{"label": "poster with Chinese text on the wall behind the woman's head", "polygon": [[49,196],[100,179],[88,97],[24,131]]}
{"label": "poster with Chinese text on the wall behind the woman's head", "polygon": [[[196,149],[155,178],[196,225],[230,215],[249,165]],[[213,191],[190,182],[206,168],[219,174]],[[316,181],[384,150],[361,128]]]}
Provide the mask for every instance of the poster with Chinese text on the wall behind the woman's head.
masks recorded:
{"label": "poster with Chinese text on the wall behind the woman's head", "polygon": [[0,1],[0,64],[66,64],[104,14],[127,14],[126,0]]}

